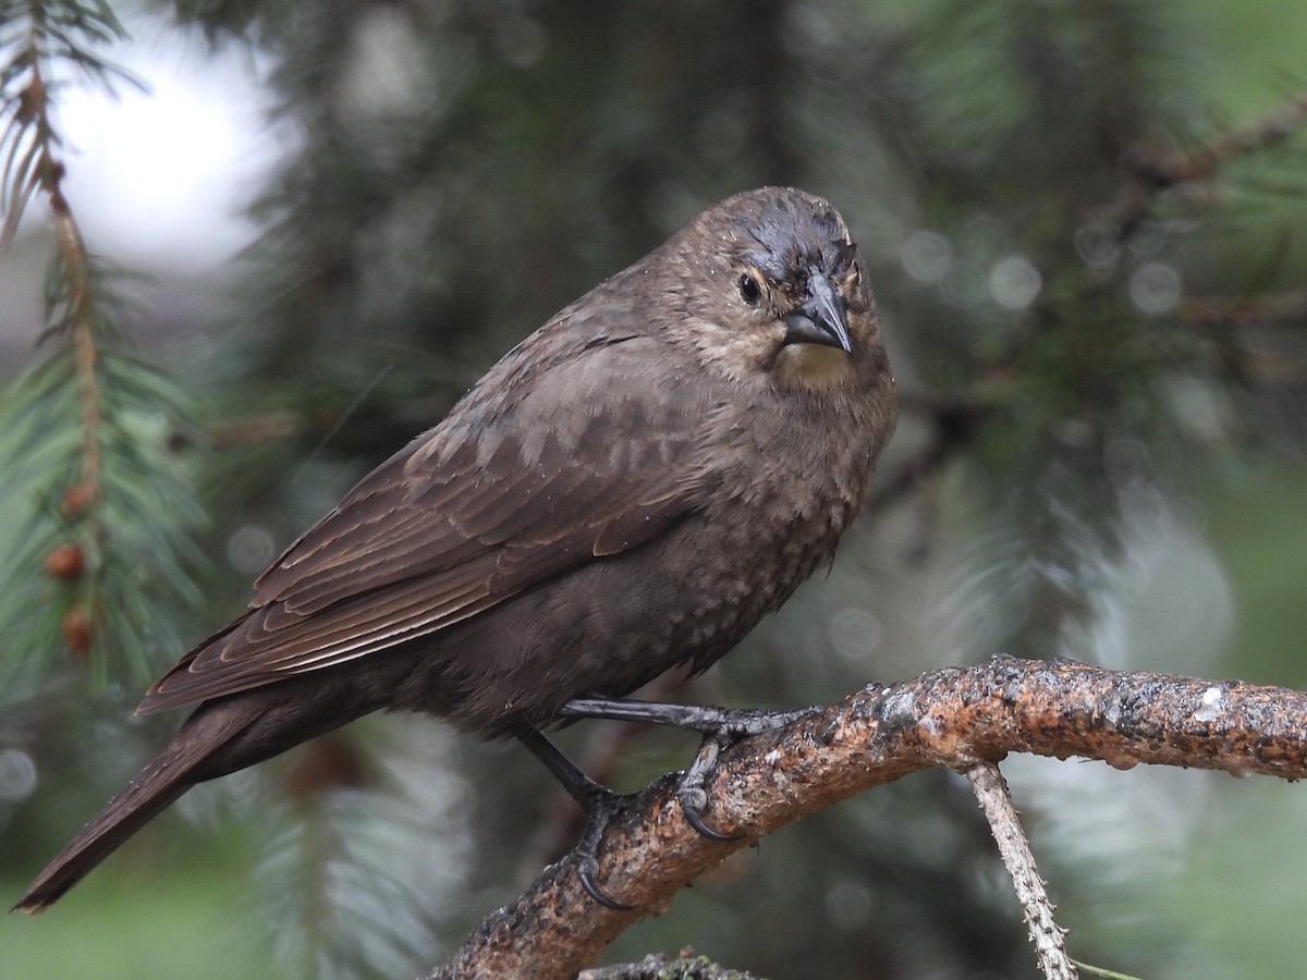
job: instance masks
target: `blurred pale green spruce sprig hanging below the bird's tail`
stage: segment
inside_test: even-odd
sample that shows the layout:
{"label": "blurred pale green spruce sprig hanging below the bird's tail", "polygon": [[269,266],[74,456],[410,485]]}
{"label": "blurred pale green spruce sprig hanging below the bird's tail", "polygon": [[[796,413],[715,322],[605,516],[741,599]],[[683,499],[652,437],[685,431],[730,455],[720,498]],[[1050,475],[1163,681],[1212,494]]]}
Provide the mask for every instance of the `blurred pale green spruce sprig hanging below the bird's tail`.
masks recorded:
{"label": "blurred pale green spruce sprig hanging below the bird's tail", "polygon": [[448,894],[467,883],[467,788],[422,725],[386,738],[375,770],[333,736],[282,770],[255,894],[288,976],[416,976],[440,959]]}

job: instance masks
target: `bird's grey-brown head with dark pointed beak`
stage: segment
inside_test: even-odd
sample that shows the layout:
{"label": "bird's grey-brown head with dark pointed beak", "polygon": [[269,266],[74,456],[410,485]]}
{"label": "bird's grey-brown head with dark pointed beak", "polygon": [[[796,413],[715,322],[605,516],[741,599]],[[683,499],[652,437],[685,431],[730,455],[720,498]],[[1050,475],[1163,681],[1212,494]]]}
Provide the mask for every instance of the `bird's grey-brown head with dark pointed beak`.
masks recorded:
{"label": "bird's grey-brown head with dark pointed beak", "polygon": [[880,358],[867,270],[839,213],[804,191],[766,187],[695,217],[667,246],[669,327],[704,363],[814,393],[855,385]]}

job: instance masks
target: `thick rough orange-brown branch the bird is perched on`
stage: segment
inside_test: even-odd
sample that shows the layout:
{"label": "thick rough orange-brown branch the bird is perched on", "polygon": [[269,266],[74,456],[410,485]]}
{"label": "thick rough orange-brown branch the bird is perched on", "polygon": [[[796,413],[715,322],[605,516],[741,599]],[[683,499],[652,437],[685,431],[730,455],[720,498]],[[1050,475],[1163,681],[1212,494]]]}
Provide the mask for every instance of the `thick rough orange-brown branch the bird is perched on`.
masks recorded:
{"label": "thick rough orange-brown branch the bird is perched on", "polygon": [[763,835],[910,772],[966,771],[1012,751],[1302,779],[1307,694],[1006,656],[868,685],[723,754],[703,817],[736,840],[708,840],[685,822],[674,775],[651,784],[609,825],[599,856],[599,886],[633,911],[593,903],[565,858],[429,977],[574,976],[618,933]]}

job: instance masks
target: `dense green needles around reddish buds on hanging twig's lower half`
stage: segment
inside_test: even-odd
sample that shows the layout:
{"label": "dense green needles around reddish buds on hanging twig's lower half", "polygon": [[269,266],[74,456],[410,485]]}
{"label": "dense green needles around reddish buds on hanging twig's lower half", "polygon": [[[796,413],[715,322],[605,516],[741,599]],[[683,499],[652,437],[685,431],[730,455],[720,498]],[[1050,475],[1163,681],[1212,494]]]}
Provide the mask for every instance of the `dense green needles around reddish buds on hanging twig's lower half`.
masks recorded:
{"label": "dense green needles around reddish buds on hanging twig's lower half", "polygon": [[[186,460],[187,399],[158,368],[103,350],[91,372],[97,418],[85,425],[76,350],[38,361],[0,400],[0,584],[9,694],[89,656],[91,677],[135,690],[170,662],[200,602],[192,544],[204,523]],[[88,440],[98,459],[86,482]],[[76,549],[80,568],[52,567]],[[65,553],[71,554],[71,553]],[[71,635],[85,623],[85,639]]]}

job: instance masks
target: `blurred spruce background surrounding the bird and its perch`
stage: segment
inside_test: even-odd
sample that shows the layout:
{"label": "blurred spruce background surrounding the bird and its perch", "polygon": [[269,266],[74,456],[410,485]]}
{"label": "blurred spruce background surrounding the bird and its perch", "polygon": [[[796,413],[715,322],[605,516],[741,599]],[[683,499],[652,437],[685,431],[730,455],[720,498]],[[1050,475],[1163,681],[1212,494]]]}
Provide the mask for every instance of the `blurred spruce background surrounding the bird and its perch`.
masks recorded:
{"label": "blurred spruce background surrounding the bird and its perch", "polygon": [[[1307,5],[0,16],[4,902],[166,741],[142,690],[280,549],[555,310],[766,183],[852,227],[902,419],[833,572],[657,696],[830,702],[993,652],[1307,686]],[[623,791],[694,749],[561,741]],[[1004,770],[1077,959],[1300,972],[1302,787]],[[578,830],[520,747],[366,719],[0,917],[0,973],[409,976]],[[684,945],[774,977],[1036,976],[945,772],[767,838],[606,958]]]}

